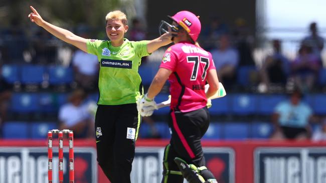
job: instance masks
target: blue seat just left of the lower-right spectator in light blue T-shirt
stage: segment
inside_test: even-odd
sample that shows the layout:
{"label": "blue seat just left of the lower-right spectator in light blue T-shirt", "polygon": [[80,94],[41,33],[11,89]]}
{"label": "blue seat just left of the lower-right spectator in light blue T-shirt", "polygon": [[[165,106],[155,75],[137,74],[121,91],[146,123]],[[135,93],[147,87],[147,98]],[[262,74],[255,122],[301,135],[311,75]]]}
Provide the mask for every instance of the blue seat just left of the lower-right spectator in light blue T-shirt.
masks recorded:
{"label": "blue seat just left of the lower-right spectator in light blue T-shirt", "polygon": [[258,114],[270,115],[273,113],[275,106],[286,99],[285,95],[259,95],[258,96]]}

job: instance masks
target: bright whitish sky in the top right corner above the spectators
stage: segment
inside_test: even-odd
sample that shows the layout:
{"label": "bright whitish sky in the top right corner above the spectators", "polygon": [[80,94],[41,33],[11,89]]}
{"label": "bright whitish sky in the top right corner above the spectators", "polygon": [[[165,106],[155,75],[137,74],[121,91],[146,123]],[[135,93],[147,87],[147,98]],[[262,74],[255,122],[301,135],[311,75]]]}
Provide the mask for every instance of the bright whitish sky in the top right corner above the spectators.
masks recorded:
{"label": "bright whitish sky in the top right corner above the spectators", "polygon": [[[326,0],[265,0],[265,2],[265,27],[271,28],[271,31],[266,32],[266,36],[269,39],[283,39],[284,49],[297,50],[297,41],[308,34],[308,26],[312,21],[317,22],[320,35],[326,37]],[[277,30],[274,31],[275,28]]]}

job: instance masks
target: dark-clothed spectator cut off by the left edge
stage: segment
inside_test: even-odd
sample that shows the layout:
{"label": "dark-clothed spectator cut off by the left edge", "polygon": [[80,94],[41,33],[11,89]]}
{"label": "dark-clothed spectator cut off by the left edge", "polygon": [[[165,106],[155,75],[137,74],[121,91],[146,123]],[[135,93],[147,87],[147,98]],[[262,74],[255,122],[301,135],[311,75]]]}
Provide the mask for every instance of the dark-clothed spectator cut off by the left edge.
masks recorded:
{"label": "dark-clothed spectator cut off by the left edge", "polygon": [[0,65],[0,137],[2,136],[2,123],[7,119],[7,108],[11,95],[11,85],[2,76],[2,66]]}

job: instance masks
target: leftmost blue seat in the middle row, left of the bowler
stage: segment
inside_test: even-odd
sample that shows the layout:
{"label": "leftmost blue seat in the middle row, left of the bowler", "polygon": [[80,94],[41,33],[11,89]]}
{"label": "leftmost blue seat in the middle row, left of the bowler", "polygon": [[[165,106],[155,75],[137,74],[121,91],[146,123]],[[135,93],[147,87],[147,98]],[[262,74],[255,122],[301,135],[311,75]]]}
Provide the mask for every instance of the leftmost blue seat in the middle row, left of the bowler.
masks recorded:
{"label": "leftmost blue seat in the middle row, left of the bowler", "polygon": [[11,110],[14,112],[35,112],[40,110],[36,93],[14,93],[11,99]]}

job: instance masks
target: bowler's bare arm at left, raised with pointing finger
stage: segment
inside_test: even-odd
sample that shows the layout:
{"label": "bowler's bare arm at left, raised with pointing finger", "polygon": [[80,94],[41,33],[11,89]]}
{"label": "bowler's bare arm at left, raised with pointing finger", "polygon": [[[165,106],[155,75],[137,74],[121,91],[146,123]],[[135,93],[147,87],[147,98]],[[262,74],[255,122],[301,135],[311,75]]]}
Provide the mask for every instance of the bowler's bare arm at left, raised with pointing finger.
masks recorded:
{"label": "bowler's bare arm at left, raised with pointing finger", "polygon": [[53,34],[54,36],[58,37],[59,39],[72,44],[79,49],[87,52],[87,46],[86,46],[86,41],[87,39],[80,37],[78,35],[75,35],[69,30],[66,30],[64,28],[60,28],[58,26],[55,26],[45,20],[41,17],[41,15],[37,12],[37,10],[33,7],[30,6],[33,12],[31,12],[28,17],[31,19],[32,22],[36,23],[37,25],[43,27],[46,29],[48,32]]}

